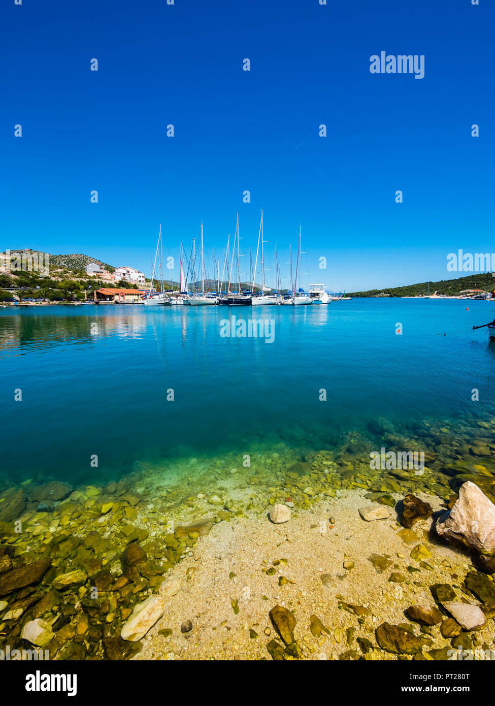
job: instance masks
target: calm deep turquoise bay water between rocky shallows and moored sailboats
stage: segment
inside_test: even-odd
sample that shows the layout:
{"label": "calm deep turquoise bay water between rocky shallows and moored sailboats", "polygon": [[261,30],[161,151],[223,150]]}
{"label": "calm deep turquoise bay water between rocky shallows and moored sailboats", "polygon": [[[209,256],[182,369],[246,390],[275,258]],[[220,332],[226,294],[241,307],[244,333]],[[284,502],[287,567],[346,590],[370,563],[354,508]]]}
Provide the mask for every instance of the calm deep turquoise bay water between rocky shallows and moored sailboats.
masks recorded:
{"label": "calm deep turquoise bay water between rocky shallows and moored sailboats", "polygon": [[[273,342],[222,337],[232,314],[272,320]],[[425,419],[490,419],[495,343],[472,325],[494,315],[486,301],[415,299],[0,309],[2,472],[114,479],[143,460],[278,443],[301,455],[350,431],[379,448],[380,417],[416,433]]]}

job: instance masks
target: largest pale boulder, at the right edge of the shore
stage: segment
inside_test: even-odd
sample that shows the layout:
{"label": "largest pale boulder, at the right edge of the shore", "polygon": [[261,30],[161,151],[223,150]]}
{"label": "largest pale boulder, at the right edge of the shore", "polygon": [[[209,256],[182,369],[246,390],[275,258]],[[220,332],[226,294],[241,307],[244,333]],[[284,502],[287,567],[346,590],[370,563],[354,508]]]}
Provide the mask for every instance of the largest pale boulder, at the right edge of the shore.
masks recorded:
{"label": "largest pale boulder, at the right edge of the shore", "polygon": [[480,554],[495,553],[495,505],[471,481],[459,489],[452,510],[436,520],[441,537],[458,539]]}

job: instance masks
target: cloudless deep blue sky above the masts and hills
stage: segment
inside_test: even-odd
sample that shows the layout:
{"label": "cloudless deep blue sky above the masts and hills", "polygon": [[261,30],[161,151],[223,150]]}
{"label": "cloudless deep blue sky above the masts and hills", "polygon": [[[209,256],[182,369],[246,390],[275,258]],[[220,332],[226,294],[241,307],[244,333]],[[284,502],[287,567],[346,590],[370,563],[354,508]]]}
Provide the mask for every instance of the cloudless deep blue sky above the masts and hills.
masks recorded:
{"label": "cloudless deep blue sky above the masts and hills", "polygon": [[[167,255],[203,221],[222,258],[239,211],[255,254],[263,208],[267,266],[301,224],[303,286],[457,276],[448,253],[495,251],[495,11],[480,3],[5,0],[0,249],[149,273],[160,222]],[[371,74],[381,51],[424,54],[424,78]]]}

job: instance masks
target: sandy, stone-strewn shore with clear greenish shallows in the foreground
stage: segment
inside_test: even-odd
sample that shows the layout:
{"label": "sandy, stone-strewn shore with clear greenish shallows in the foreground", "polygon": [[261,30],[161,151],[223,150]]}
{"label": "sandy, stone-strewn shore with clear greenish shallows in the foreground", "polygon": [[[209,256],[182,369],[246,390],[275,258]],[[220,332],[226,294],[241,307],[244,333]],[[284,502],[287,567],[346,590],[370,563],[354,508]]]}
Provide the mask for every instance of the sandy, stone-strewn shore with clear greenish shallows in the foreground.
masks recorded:
{"label": "sandy, stone-strewn shore with clear greenish shallows in the foreground", "polygon": [[[376,424],[389,445],[419,448]],[[474,486],[494,507],[494,429],[477,421],[447,443],[449,430],[431,426],[417,475],[372,472],[373,444],[350,432],[338,449],[280,445],[250,467],[234,455],[188,460],[191,473],[173,482],[137,462],[102,486],[4,483],[0,650],[69,660],[487,654],[494,551],[487,532],[481,544],[476,532],[460,541],[467,515],[455,503]],[[450,527],[439,524],[448,510]]]}

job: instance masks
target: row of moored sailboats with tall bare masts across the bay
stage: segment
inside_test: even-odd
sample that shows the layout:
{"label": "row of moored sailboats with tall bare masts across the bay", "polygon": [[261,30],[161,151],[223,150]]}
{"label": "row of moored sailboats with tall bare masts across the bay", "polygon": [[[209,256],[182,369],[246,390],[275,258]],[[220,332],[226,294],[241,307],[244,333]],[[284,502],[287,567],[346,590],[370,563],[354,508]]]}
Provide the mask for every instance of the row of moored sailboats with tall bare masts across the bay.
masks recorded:
{"label": "row of moored sailboats with tall bare masts across the bay", "polygon": [[[201,223],[201,291],[189,292],[187,283],[188,277],[184,275],[184,249],[181,246],[180,258],[180,284],[179,291],[175,292],[171,288],[168,292],[165,291],[165,282],[163,279],[163,256],[162,256],[162,226],[160,224],[160,234],[158,236],[157,247],[155,251],[155,261],[153,263],[153,273],[151,275],[151,284],[149,292],[145,295],[143,303],[145,306],[308,306],[311,304],[330,304],[331,301],[342,301],[350,299],[350,297],[335,296],[328,294],[323,284],[310,285],[309,291],[304,292],[302,287],[297,287],[301,282],[301,256],[304,254],[301,251],[301,227],[299,226],[299,244],[297,249],[297,261],[295,267],[295,275],[292,273],[292,245],[290,246],[290,281],[291,288],[286,294],[280,294],[280,268],[278,264],[277,247],[275,246],[275,276],[278,283],[278,289],[266,286],[265,277],[265,249],[264,244],[268,242],[263,239],[263,210],[261,211],[261,222],[258,233],[258,246],[256,248],[256,261],[254,264],[251,258],[251,274],[253,283],[251,290],[242,289],[241,273],[240,273],[240,258],[239,253],[239,213],[237,214],[236,231],[234,234],[234,243],[232,246],[232,258],[230,253],[230,234],[227,239],[227,248],[225,250],[225,258],[223,263],[222,277],[220,278],[220,261],[217,260],[217,292],[205,291],[205,258],[204,258],[204,242],[203,242],[203,224]],[[258,258],[261,270],[261,288],[254,283],[255,274],[258,271]],[[184,258],[185,259],[185,258]],[[195,273],[196,268],[196,239],[193,240],[193,248],[191,258],[189,259],[189,270]],[[158,274],[158,277],[156,276]],[[156,292],[153,287],[155,280],[160,281],[160,292]],[[234,280],[236,284],[234,285]],[[208,280],[207,280],[208,281]],[[198,284],[199,280],[197,280]],[[222,291],[226,285],[226,291]],[[237,291],[232,291],[232,287],[236,286]],[[197,288],[197,285],[196,285]]]}

